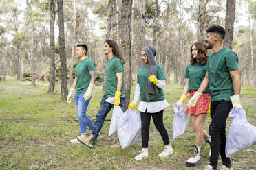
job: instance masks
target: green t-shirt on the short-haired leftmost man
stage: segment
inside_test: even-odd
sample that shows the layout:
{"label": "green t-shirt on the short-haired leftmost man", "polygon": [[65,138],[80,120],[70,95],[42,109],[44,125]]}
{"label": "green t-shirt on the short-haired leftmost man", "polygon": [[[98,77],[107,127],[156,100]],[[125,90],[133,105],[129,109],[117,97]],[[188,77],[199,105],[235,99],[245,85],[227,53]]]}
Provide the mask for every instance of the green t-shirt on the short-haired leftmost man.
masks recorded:
{"label": "green t-shirt on the short-haired leftmost man", "polygon": [[95,71],[95,64],[89,58],[85,58],[76,65],[76,95],[86,92],[89,82],[91,82],[89,71]]}

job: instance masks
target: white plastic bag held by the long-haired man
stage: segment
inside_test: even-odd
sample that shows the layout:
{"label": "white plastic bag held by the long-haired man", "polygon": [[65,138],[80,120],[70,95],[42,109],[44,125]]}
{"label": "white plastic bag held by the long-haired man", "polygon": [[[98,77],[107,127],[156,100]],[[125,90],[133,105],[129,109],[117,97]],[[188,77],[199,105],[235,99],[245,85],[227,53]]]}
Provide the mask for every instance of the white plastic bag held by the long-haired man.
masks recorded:
{"label": "white plastic bag held by the long-haired man", "polygon": [[[114,97],[109,97],[105,101],[110,104],[114,104]],[[114,106],[111,123],[109,127],[109,136],[117,132],[118,121],[122,114],[122,108],[120,108],[120,106]]]}

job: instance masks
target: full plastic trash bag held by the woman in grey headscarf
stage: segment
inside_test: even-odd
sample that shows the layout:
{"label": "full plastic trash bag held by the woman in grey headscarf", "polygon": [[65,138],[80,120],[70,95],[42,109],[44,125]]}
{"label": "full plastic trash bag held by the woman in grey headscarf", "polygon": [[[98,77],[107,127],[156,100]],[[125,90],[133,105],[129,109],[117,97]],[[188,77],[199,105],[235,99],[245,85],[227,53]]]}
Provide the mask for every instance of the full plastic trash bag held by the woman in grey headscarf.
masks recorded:
{"label": "full plastic trash bag held by the woman in grey headscarf", "polygon": [[118,121],[118,138],[122,149],[134,144],[140,134],[140,112],[134,109],[127,109]]}

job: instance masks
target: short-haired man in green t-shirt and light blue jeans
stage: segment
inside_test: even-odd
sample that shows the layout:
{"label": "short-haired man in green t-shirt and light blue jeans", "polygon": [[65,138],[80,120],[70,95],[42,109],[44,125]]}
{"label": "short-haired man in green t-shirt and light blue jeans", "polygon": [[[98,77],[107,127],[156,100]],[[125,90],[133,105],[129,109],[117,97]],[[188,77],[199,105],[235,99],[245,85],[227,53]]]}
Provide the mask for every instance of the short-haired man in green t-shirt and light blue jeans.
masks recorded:
{"label": "short-haired man in green t-shirt and light blue jeans", "polygon": [[79,143],[87,141],[86,127],[93,130],[93,123],[86,115],[86,110],[89,105],[89,101],[92,98],[92,88],[94,88],[94,82],[96,79],[95,64],[92,60],[87,58],[87,46],[77,45],[76,58],[78,58],[78,64],[76,65],[76,77],[67,95],[67,103],[70,104],[71,96],[76,89],[76,95],[74,96],[74,103],[76,106],[76,116],[79,120],[81,135],[76,139],[70,140],[72,143]]}

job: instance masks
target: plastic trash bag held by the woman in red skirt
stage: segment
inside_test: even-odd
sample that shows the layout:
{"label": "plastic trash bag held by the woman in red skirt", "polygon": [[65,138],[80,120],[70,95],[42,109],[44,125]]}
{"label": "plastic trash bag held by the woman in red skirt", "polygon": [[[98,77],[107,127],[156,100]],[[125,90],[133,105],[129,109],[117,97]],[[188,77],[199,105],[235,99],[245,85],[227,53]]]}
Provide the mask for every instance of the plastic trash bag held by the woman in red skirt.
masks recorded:
{"label": "plastic trash bag held by the woman in red skirt", "polygon": [[189,117],[186,110],[182,107],[182,104],[174,105],[174,119],[173,119],[173,141],[178,136],[184,134],[186,126],[188,125]]}

